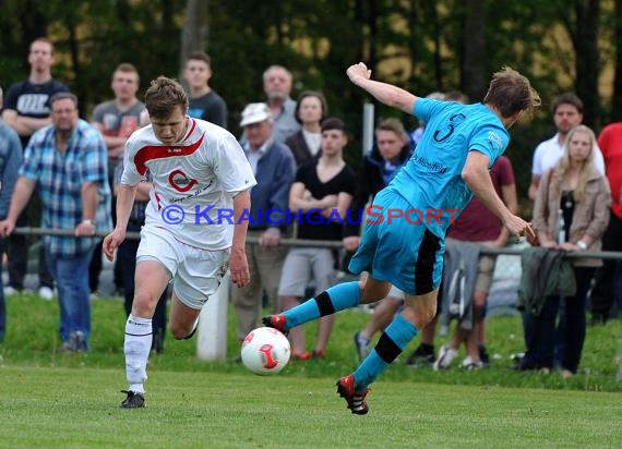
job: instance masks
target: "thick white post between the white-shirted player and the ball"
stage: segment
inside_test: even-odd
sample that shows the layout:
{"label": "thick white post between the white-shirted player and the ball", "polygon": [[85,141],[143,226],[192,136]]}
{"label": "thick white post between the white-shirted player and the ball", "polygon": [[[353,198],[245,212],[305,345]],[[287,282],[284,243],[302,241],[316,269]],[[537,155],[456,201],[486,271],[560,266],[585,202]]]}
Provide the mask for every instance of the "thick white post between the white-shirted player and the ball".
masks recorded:
{"label": "thick white post between the white-shirted player and the ball", "polygon": [[210,296],[201,311],[196,329],[196,355],[199,360],[214,361],[227,357],[227,307],[229,305],[229,274],[220,287]]}

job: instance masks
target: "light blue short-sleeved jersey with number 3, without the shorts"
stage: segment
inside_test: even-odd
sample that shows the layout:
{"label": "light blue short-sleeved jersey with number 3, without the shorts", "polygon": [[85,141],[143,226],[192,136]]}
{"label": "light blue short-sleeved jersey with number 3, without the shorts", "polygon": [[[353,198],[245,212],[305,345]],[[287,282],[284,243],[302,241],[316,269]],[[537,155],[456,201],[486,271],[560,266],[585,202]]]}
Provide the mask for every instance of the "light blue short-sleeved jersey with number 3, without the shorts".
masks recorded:
{"label": "light blue short-sleeved jersey with number 3, without the shorts", "polygon": [[482,104],[419,98],[414,114],[426,122],[426,132],[388,187],[423,214],[424,225],[432,233],[444,238],[451,222],[473,197],[460,177],[468,151],[488,156],[490,168],[507,147],[510,135],[501,120]]}

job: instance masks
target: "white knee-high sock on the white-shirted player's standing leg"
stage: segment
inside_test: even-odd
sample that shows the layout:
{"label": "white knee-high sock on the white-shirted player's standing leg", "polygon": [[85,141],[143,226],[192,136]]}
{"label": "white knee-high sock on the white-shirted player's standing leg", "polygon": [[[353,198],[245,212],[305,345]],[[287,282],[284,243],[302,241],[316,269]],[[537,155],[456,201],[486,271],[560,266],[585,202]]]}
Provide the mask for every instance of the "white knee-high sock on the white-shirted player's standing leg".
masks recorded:
{"label": "white knee-high sock on the white-shirted player's standing leg", "polygon": [[147,359],[152,348],[153,330],[151,318],[130,315],[125,323],[125,375],[129,390],[144,393],[147,379]]}

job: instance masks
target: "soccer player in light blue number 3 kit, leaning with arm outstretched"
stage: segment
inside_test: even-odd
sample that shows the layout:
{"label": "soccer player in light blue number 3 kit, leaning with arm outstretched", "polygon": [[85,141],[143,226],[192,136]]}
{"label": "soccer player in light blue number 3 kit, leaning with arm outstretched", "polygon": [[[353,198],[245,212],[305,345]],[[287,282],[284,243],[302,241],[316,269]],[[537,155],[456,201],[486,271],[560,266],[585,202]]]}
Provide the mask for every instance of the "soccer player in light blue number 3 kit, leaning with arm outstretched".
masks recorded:
{"label": "soccer player in light blue number 3 kit, leaning with arm outstretched", "polygon": [[350,81],[379,101],[427,123],[407,165],[374,198],[360,246],[349,270],[368,271],[366,280],[344,282],[264,324],[282,331],[321,316],[376,302],[391,284],[405,292],[404,311],[386,327],[359,367],[337,381],[348,409],[366,414],[369,385],[393,362],[435,315],[445,233],[475,194],[511,234],[536,234],[501,201],[489,169],[510,142],[507,130],[540,104],[538,93],[518,72],[504,68],[492,76],[483,102],[460,105],[417,97],[399,87],[372,81],[359,62],[347,70]]}

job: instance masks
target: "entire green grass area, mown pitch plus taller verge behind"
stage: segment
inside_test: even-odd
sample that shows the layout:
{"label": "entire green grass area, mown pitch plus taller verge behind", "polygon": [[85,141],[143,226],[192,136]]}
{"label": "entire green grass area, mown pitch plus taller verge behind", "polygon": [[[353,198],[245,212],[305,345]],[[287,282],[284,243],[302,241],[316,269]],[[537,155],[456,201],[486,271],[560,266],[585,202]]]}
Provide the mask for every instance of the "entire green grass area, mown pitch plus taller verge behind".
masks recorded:
{"label": "entire green grass area, mown pitch plus taller verge behind", "polygon": [[334,384],[356,366],[351,336],[368,318],[358,311],[337,318],[326,360],[292,362],[272,377],[236,363],[200,362],[194,341],[167,336],[165,353],[149,361],[147,408],[121,410],[120,302],[93,303],[93,350],[73,355],[56,351],[56,303],[23,295],[8,308],[0,447],[614,448],[622,441],[622,384],[614,380],[620,321],[588,329],[582,371],[563,380],[559,373],[514,373],[509,355],[523,350],[519,319],[491,318],[490,368],[436,373],[397,361],[373,385],[370,413],[357,416]]}

